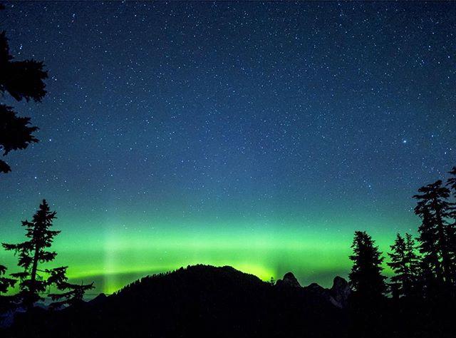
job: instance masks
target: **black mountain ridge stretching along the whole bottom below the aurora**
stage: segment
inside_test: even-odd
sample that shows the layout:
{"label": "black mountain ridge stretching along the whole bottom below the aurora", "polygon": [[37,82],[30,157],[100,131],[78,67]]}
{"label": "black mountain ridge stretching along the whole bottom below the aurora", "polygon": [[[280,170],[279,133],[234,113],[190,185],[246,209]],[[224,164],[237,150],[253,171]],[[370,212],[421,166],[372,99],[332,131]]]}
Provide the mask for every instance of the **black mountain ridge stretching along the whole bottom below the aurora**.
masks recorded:
{"label": "black mountain ridge stretching along the whole bottom below the aurora", "polygon": [[302,287],[291,272],[274,284],[195,265],[61,310],[33,307],[0,337],[455,337],[447,297],[364,299],[359,307],[355,296],[341,277],[325,289]]}

